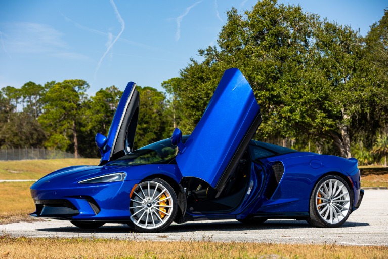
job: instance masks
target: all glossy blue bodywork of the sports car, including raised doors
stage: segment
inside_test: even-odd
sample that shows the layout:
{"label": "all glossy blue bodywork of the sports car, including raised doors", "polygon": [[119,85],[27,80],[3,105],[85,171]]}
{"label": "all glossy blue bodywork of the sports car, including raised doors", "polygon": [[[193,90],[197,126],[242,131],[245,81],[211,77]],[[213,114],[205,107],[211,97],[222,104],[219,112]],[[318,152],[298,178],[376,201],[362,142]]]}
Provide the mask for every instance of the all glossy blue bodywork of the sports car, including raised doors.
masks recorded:
{"label": "all glossy blue bodywork of the sports car, including raised doors", "polygon": [[[130,157],[131,154],[136,154],[130,153],[130,150],[132,134],[136,128],[138,102],[135,84],[130,82],[119,102],[108,137],[105,138],[101,134],[96,136],[96,144],[102,153],[99,166],[63,168],[42,177],[31,186],[31,196],[35,201],[66,200],[74,206],[74,211],[79,212],[74,215],[48,217],[116,223],[130,221],[130,193],[136,184],[145,179],[158,177],[163,178],[179,192],[178,189],[183,190],[183,186],[179,187],[179,184],[183,184],[186,179],[184,177],[196,177],[216,187],[220,179],[228,178],[229,175],[225,175],[224,171],[233,157],[237,156],[236,152],[245,150],[250,154],[251,160],[248,164],[250,169],[249,167],[247,169],[249,172],[246,173],[249,179],[241,201],[228,211],[186,211],[185,220],[245,219],[252,216],[306,217],[309,215],[309,201],[316,183],[329,174],[338,175],[348,182],[353,190],[353,210],[357,208],[362,190],[356,159],[287,149],[283,149],[284,154],[278,151],[277,155],[271,153],[272,155],[257,157],[252,155],[251,148],[256,148],[260,145],[259,142],[251,141],[250,147],[249,142],[241,144],[246,132],[252,128],[252,122],[255,120],[257,122],[260,108],[252,89],[238,69],[229,69],[225,72],[203,117],[192,135],[186,142],[184,141],[185,144],[181,142],[182,132],[175,129],[170,140],[173,145],[179,146],[179,154],[177,150],[173,150],[173,154],[178,154],[175,158],[163,160],[160,164],[115,165],[116,161],[107,163],[122,156]],[[163,148],[165,143],[166,141],[163,142]],[[264,149],[271,149],[269,144],[263,146]],[[140,153],[148,148],[140,150]],[[277,147],[276,150],[282,148]],[[280,180],[275,181],[273,165],[279,163],[284,167],[284,174]],[[78,183],[118,172],[125,173],[122,181]],[[220,190],[218,194],[221,193]],[[180,199],[180,206],[184,212],[187,200],[185,196]],[[91,204],[99,207],[97,213]],[[39,203],[36,205],[37,211],[38,207]],[[40,212],[37,211],[32,215],[39,216]]]}

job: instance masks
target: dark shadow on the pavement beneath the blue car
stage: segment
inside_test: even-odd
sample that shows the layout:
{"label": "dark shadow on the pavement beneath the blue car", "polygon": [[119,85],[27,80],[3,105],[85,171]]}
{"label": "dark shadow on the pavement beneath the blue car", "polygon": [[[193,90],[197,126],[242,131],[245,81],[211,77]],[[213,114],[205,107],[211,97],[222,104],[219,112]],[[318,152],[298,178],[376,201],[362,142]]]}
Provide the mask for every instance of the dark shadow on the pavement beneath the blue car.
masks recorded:
{"label": "dark shadow on the pavement beneath the blue car", "polygon": [[[364,227],[368,223],[346,222],[340,228]],[[184,224],[173,224],[163,233],[183,233],[195,231],[249,231],[249,230],[285,230],[285,229],[314,229],[304,220],[268,220],[262,224],[242,224],[238,221],[220,221],[220,222],[189,222]],[[129,233],[132,230],[126,224],[104,225],[98,229],[80,229],[77,227],[59,227],[37,229],[43,232],[57,233]]]}

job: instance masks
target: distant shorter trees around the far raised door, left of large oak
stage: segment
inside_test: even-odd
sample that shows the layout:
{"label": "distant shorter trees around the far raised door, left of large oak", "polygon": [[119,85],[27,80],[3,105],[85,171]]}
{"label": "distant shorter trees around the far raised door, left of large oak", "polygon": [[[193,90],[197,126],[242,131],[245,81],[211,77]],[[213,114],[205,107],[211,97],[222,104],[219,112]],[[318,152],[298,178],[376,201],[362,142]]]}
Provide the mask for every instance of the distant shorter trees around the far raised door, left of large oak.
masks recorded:
{"label": "distant shorter trees around the far raised door, left of large oak", "polygon": [[[122,91],[111,86],[88,96],[88,88],[84,80],[2,88],[0,146],[47,147],[73,152],[75,157],[99,157],[94,137],[97,132],[108,134]],[[173,124],[163,92],[136,89],[141,103],[135,145],[140,147],[168,137]]]}

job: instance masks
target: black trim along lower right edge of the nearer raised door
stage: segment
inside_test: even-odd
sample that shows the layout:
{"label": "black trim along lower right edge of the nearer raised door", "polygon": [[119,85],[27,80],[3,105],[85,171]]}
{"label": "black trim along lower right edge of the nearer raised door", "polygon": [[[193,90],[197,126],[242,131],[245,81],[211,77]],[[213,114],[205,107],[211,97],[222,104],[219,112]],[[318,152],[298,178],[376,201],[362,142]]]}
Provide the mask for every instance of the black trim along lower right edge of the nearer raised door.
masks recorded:
{"label": "black trim along lower right edge of the nearer raised door", "polygon": [[222,190],[225,187],[225,183],[228,180],[229,175],[233,172],[233,170],[236,168],[238,163],[240,162],[241,157],[244,155],[244,152],[246,148],[248,147],[250,140],[253,138],[254,133],[256,133],[256,130],[258,129],[258,126],[262,123],[262,113],[260,110],[256,114],[253,122],[250,124],[248,131],[244,135],[243,139],[239,143],[235,153],[233,154],[231,160],[229,161],[228,165],[226,166],[222,176],[220,177],[217,184],[215,184],[215,190],[218,191],[219,196],[222,192]]}

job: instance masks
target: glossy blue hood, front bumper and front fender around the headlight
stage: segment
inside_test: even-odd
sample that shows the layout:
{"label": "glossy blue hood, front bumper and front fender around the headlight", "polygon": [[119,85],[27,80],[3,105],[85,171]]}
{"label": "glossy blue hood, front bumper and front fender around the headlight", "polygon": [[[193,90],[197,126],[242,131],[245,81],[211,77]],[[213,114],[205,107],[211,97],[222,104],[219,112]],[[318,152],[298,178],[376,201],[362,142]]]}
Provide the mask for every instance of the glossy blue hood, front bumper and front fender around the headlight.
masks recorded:
{"label": "glossy blue hood, front bumper and front fender around the headlight", "polygon": [[[80,184],[78,181],[125,172],[126,178],[120,182]],[[75,166],[53,172],[31,186],[34,200],[67,199],[79,210],[73,219],[95,219],[115,221],[128,219],[129,194],[135,184],[150,176],[163,175],[179,182],[182,178],[177,165],[149,164],[143,166]],[[48,182],[47,182],[48,181]],[[91,212],[85,197],[92,197],[101,208],[97,215]]]}

